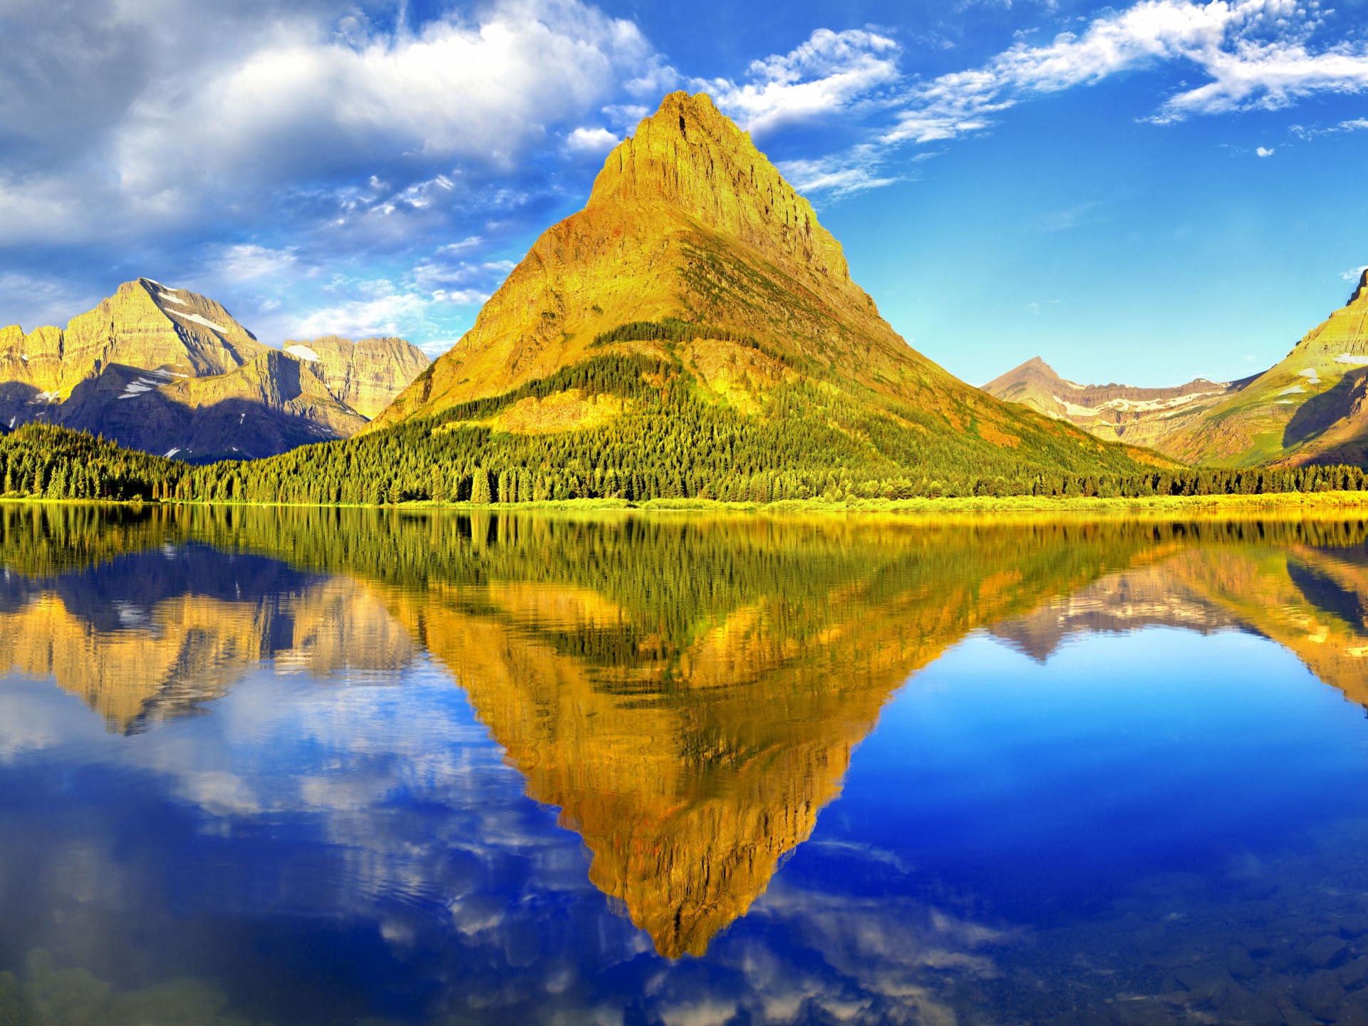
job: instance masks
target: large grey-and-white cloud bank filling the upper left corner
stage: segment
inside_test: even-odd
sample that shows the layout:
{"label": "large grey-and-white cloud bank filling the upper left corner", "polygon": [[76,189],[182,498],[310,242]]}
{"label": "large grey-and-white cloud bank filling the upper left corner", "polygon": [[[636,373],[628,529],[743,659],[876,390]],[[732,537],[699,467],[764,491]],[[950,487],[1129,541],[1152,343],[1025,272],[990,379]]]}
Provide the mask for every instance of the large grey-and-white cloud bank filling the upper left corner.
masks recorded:
{"label": "large grey-and-white cloud bank filling the upper left corner", "polygon": [[[0,245],[156,235],[230,204],[241,219],[282,190],[326,192],[387,164],[406,181],[431,168],[391,198],[423,211],[456,187],[453,166],[517,172],[558,126],[668,77],[636,25],[580,0],[495,0],[415,31],[339,29],[274,0],[252,18],[205,1],[92,3],[75,27],[120,48],[112,63],[93,59],[94,41],[48,53],[41,4],[16,3],[34,10],[11,42],[33,52],[0,70],[0,135],[25,140],[0,148]],[[34,74],[45,60],[73,81]],[[83,114],[96,100],[97,127]],[[53,156],[34,174],[40,152]]]}

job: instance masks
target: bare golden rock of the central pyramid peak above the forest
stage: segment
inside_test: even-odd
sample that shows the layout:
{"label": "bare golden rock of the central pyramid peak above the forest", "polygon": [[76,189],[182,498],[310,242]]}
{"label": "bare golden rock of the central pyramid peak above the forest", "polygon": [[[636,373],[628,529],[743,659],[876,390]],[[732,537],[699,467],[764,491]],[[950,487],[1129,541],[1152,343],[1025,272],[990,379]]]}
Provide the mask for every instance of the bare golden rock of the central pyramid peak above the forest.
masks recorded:
{"label": "bare golden rock of the central pyramid peak above the forest", "polygon": [[[1022,460],[1089,445],[911,349],[851,280],[807,200],[702,93],[665,97],[607,156],[584,209],[536,241],[475,326],[367,430],[624,353],[672,361],[710,402],[747,416],[788,386],[836,387],[860,409],[886,409],[889,434],[908,430],[911,410],[934,417],[936,432]],[[558,421],[577,425],[590,424]]]}

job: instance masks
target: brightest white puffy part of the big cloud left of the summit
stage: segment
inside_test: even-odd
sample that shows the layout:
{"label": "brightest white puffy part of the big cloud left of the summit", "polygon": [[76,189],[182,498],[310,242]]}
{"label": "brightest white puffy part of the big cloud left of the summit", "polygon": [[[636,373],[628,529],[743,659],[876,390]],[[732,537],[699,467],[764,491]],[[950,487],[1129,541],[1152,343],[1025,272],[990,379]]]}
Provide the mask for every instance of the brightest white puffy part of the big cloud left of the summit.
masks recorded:
{"label": "brightest white puffy part of the big cloud left of the summit", "polygon": [[503,0],[479,22],[360,47],[291,25],[189,94],[144,96],[119,140],[120,179],[155,196],[196,170],[324,171],[339,149],[376,148],[508,167],[650,57],[635,25],[573,0]]}

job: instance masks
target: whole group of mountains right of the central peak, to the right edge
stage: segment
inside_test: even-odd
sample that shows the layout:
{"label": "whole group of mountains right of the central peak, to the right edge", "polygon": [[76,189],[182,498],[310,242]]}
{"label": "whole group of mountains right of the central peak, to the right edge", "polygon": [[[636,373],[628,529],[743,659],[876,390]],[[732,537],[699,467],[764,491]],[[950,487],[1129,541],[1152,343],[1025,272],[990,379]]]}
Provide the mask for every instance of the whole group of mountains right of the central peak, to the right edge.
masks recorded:
{"label": "whole group of mountains right of the central peak, to the right edge", "polygon": [[1276,367],[1235,382],[1175,389],[1077,384],[1040,357],[984,386],[1008,402],[1099,438],[1146,445],[1190,464],[1368,462],[1368,271],[1349,302]]}

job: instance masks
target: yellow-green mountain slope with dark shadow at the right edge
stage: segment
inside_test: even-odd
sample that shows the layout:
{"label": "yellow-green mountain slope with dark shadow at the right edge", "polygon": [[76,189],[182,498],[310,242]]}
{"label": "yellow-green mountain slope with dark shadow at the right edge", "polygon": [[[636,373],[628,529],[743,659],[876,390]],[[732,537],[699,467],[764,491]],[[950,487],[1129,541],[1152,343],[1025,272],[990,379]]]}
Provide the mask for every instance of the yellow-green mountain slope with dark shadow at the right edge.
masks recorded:
{"label": "yellow-green mountain slope with dark shadow at the right edge", "polygon": [[1363,464],[1368,461],[1368,271],[1349,302],[1312,328],[1282,363],[1164,439],[1190,462]]}

